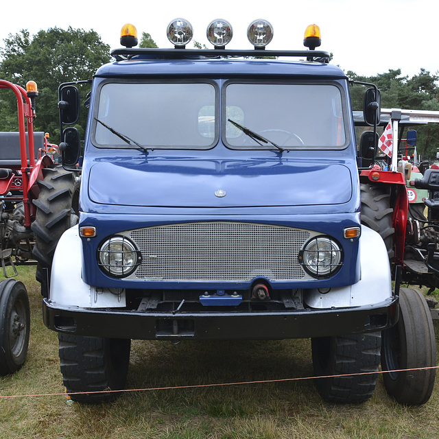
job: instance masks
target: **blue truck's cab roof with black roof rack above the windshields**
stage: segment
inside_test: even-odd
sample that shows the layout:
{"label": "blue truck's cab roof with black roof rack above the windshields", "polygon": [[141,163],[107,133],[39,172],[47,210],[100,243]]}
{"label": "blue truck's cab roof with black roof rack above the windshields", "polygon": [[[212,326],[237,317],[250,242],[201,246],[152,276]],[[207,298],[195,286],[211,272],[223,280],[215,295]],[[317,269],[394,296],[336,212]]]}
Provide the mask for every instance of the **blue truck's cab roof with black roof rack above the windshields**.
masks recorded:
{"label": "blue truck's cab roof with black roof rack above the windshields", "polygon": [[117,49],[111,55],[115,62],[99,68],[97,76],[294,75],[346,78],[342,69],[327,63],[329,54],[324,51]]}

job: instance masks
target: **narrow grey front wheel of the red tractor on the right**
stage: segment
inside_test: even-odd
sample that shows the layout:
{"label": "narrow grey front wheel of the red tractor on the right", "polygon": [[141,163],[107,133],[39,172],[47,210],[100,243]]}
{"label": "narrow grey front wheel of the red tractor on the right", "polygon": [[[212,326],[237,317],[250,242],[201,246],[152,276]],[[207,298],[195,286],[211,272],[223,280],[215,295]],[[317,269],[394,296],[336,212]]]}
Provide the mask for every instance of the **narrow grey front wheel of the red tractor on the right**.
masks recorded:
{"label": "narrow grey front wheel of the red tractor on the right", "polygon": [[[401,288],[399,320],[383,331],[382,370],[401,370],[436,366],[436,340],[433,320],[423,294]],[[385,389],[396,401],[407,405],[426,403],[433,392],[435,369],[388,372]]]}

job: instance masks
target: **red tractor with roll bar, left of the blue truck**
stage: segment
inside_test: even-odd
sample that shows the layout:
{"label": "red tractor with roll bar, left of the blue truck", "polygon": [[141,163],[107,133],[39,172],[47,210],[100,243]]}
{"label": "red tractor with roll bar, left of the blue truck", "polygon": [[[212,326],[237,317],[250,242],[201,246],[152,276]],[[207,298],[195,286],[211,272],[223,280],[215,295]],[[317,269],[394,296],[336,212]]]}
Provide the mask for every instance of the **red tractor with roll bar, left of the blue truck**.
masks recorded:
{"label": "red tractor with roll bar, left of the blue truck", "polygon": [[56,243],[78,221],[79,182],[54,163],[45,133],[34,132],[36,83],[29,81],[25,91],[0,80],[0,89],[14,93],[19,121],[18,132],[0,132],[0,374],[7,375],[25,361],[30,323],[25,285],[11,277],[16,265],[45,254],[47,263],[38,259],[37,265],[44,294]]}

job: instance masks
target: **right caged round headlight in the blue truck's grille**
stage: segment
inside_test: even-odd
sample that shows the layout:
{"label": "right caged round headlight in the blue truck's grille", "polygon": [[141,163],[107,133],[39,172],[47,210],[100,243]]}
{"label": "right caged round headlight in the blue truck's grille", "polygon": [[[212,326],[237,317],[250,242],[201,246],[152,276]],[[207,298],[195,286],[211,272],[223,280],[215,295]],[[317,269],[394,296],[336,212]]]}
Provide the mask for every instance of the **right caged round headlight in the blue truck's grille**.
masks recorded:
{"label": "right caged round headlight in the blue truck's grille", "polygon": [[331,238],[316,237],[299,253],[299,261],[311,276],[328,277],[342,265],[342,250]]}

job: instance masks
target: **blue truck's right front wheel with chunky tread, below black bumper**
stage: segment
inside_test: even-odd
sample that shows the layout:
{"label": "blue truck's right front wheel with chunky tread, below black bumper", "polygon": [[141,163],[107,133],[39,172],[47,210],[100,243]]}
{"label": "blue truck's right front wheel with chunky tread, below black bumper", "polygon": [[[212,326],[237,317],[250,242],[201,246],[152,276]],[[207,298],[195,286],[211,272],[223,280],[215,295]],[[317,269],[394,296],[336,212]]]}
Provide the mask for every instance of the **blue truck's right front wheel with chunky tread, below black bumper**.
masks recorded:
{"label": "blue truck's right front wheel with chunky tread, below black bumper", "polygon": [[[362,403],[370,399],[377,383],[381,333],[364,333],[311,340],[313,369],[318,392],[333,403]],[[328,377],[329,376],[329,377]]]}

